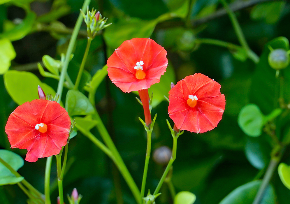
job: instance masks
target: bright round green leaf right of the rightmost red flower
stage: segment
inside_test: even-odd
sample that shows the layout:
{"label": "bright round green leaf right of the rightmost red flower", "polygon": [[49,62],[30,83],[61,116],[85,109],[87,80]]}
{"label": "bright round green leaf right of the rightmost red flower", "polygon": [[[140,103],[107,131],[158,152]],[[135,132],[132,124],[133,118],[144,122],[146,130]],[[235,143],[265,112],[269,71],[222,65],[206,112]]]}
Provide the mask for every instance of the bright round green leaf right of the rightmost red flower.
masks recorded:
{"label": "bright round green leaf right of the rightmost red flower", "polygon": [[238,124],[242,131],[251,137],[258,137],[262,133],[264,115],[255,104],[248,104],[240,111]]}

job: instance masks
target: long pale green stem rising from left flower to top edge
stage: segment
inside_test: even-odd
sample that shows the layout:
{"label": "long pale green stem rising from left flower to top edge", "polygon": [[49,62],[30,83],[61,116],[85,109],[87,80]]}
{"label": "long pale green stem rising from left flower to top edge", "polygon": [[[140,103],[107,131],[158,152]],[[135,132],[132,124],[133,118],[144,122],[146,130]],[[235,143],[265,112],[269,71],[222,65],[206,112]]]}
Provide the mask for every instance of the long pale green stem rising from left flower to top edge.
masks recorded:
{"label": "long pale green stem rising from left flower to top edge", "polygon": [[[89,6],[90,2],[91,2],[91,0],[85,0],[84,4],[82,6],[82,10],[86,10],[86,8],[87,8],[87,6]],[[76,41],[78,33],[80,31],[80,26],[82,25],[82,21],[83,21],[83,17],[82,17],[82,14],[80,13],[78,16],[78,20],[75,24],[75,27],[73,29],[73,33],[71,35],[71,40],[69,41],[69,44],[68,44],[68,48],[66,51],[66,57],[65,57],[64,64],[63,64],[63,67],[61,69],[61,74],[59,77],[59,83],[57,86],[57,95],[59,96],[59,98],[57,100],[58,103],[61,101],[61,94],[62,94],[62,90],[64,88],[64,78],[65,78],[65,75],[67,73],[69,59],[70,59],[71,53],[73,52],[73,47],[75,45],[75,41]]]}

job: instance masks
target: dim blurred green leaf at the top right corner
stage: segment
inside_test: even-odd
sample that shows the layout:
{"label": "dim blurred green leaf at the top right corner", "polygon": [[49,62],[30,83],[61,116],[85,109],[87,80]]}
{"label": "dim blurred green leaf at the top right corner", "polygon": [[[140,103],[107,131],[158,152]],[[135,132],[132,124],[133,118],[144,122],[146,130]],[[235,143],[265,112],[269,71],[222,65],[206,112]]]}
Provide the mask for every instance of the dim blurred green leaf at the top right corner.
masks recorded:
{"label": "dim blurred green leaf at the top right corner", "polygon": [[285,1],[264,2],[256,5],[251,11],[254,20],[264,20],[266,23],[276,23],[285,6]]}

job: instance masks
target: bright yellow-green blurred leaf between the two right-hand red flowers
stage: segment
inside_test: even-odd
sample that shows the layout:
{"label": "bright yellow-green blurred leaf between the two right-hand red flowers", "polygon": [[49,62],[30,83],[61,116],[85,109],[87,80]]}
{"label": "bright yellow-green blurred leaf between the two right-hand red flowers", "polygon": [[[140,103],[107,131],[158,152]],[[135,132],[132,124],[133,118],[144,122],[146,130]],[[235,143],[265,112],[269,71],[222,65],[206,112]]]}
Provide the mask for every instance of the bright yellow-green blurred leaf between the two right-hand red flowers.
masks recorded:
{"label": "bright yellow-green blurred leaf between the two right-hand red flowers", "polygon": [[171,82],[175,82],[175,73],[173,66],[169,64],[166,68],[166,72],[161,76],[160,82],[152,85],[149,88],[149,95],[153,92],[152,107],[156,107],[162,101],[166,100],[164,96],[168,97],[168,92],[171,89]]}

